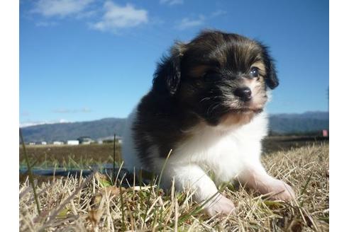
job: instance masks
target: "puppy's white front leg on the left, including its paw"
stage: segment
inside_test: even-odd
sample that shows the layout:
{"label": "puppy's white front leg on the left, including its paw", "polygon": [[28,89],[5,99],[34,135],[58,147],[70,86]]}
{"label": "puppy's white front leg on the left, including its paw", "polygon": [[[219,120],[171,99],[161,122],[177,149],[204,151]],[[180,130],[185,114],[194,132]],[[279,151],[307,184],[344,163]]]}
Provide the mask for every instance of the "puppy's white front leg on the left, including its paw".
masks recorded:
{"label": "puppy's white front leg on the left, including its paw", "polygon": [[194,191],[194,200],[204,204],[204,210],[210,216],[230,214],[235,209],[233,202],[218,192],[214,182],[199,166],[172,166],[168,174],[174,178],[177,190],[189,188]]}

